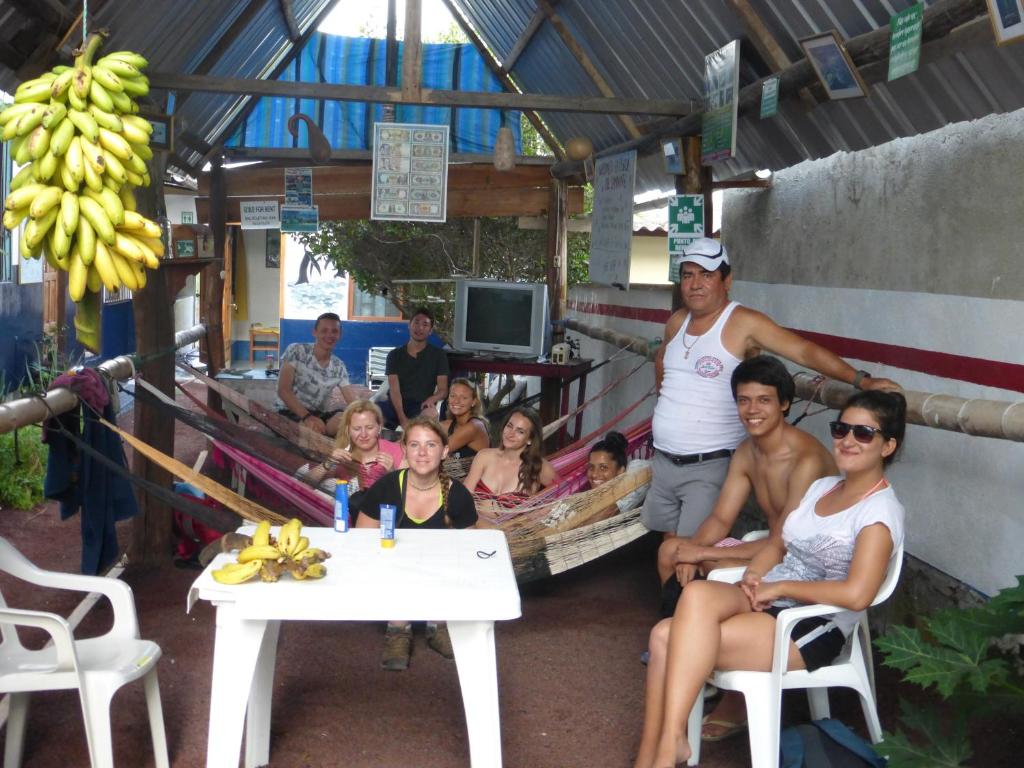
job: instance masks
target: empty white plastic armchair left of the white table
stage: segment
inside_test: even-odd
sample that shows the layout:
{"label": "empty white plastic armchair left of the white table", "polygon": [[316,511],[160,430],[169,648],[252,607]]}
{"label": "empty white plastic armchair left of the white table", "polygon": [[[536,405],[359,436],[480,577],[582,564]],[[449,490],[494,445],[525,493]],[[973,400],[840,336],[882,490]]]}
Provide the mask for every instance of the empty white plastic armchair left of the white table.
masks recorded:
{"label": "empty white plastic armchair left of the white table", "polygon": [[[76,640],[68,622],[56,613],[7,607],[0,595],[0,693],[10,694],[4,768],[22,764],[29,694],[77,688],[85,718],[85,735],[93,768],[113,768],[111,699],[125,683],[143,678],[145,703],[158,768],[168,768],[167,736],[160,706],[157,660],[160,646],[138,637],[131,588],[124,582],[42,570],[0,538],[0,570],[30,584],[105,595],[114,608],[114,626],[104,635]],[[22,645],[18,627],[35,627],[52,638],[42,650]]]}

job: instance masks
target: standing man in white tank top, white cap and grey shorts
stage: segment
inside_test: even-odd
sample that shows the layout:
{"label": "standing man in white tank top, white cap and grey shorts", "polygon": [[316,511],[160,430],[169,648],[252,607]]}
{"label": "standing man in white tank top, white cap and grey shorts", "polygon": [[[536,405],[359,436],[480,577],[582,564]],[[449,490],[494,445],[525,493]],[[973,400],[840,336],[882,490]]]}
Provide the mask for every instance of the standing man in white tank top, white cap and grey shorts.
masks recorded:
{"label": "standing man in white tank top, white cap and grey shorts", "polygon": [[[673,313],[654,358],[653,478],[642,518],[666,538],[692,536],[711,513],[729,457],[746,436],[729,381],[746,357],[774,352],[860,389],[899,390],[827,349],[729,300],[729,256],[718,241],[690,244],[680,265],[684,308]],[[681,333],[680,333],[681,332]]]}

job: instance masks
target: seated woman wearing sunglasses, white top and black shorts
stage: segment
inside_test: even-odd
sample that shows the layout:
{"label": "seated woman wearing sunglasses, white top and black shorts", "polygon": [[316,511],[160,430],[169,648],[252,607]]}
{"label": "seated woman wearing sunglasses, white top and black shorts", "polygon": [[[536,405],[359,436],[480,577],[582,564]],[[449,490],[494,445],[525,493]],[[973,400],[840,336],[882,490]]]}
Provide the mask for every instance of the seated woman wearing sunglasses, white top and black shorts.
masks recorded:
{"label": "seated woman wearing sunglasses, white top and black shorts", "polygon": [[675,615],[651,631],[636,768],[686,762],[686,720],[705,680],[716,669],[769,671],[775,616],[783,608],[844,608],[793,631],[788,669],[814,671],[836,658],[874,599],[903,541],[903,505],[885,468],[903,442],[906,400],[857,392],[829,426],[842,475],[811,484],[739,584],[691,583]]}

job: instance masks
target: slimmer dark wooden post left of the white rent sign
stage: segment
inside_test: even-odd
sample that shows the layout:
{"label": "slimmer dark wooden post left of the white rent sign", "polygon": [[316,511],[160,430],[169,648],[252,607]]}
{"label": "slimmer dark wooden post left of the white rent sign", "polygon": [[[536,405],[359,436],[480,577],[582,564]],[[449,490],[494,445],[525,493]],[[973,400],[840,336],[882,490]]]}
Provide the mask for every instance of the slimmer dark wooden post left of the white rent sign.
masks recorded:
{"label": "slimmer dark wooden post left of the white rent sign", "polygon": [[[200,307],[201,322],[206,326],[206,340],[200,345],[207,375],[216,376],[224,368],[224,252],[227,242],[226,184],[224,169],[219,157],[212,161],[210,170],[210,228],[213,230],[213,263],[204,271]],[[230,329],[227,330],[228,338]],[[220,395],[207,392],[207,404],[220,410]]]}

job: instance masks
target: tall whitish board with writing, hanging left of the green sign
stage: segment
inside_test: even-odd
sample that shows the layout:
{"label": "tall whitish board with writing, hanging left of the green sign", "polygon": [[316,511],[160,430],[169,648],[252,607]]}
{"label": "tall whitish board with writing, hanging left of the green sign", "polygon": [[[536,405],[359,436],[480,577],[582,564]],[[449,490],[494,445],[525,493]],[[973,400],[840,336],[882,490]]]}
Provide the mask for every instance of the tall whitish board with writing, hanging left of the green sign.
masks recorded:
{"label": "tall whitish board with writing, hanging left of the green sign", "polygon": [[594,214],[590,229],[590,280],[629,288],[633,245],[633,187],[637,153],[598,158],[594,167]]}

